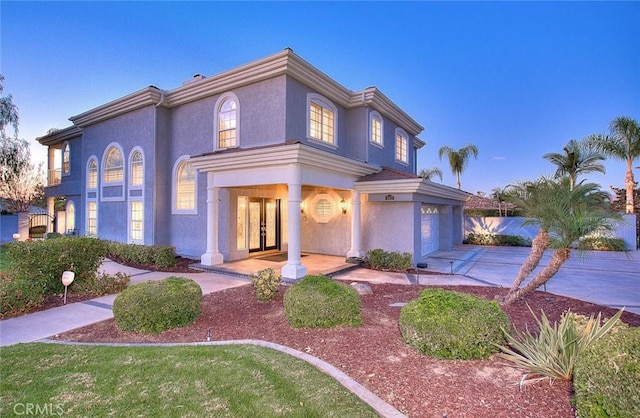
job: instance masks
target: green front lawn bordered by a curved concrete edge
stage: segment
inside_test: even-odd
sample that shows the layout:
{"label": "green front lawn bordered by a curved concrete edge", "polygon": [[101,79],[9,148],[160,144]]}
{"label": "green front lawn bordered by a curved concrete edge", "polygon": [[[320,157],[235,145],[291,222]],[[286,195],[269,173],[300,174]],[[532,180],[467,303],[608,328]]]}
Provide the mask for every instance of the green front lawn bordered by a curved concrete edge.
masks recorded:
{"label": "green front lawn bordered by a curved concrete edge", "polygon": [[334,379],[256,346],[18,344],[0,353],[0,416],[375,417]]}

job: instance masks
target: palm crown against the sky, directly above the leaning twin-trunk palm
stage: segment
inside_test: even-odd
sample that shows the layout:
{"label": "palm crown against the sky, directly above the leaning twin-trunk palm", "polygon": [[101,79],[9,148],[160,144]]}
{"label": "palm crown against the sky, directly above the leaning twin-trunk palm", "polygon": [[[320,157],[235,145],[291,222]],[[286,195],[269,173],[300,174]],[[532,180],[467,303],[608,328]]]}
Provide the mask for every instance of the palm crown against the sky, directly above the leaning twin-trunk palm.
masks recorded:
{"label": "palm crown against the sky, directly above the leaning twin-trunk palm", "polygon": [[564,154],[550,152],[543,155],[543,158],[558,166],[556,178],[569,176],[569,187],[571,189],[573,189],[580,174],[605,173],[604,165],[600,163],[600,161],[605,160],[604,155],[589,147],[587,143],[580,143],[572,139],[565,145],[563,151]]}

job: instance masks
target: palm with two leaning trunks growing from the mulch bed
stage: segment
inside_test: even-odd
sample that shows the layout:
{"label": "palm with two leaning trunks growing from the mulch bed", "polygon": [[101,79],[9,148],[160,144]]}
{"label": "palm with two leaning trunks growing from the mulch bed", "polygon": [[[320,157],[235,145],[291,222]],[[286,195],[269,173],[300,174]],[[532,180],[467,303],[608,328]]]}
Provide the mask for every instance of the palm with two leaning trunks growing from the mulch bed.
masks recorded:
{"label": "palm with two leaning trunks growing from the mulch bed", "polygon": [[[505,296],[508,305],[547,283],[569,259],[571,247],[580,238],[594,232],[611,231],[620,216],[609,210],[609,195],[594,183],[577,183],[568,187],[569,179],[553,181],[542,178],[513,186],[507,198],[518,205],[540,232],[534,238],[529,256],[520,268]],[[544,251],[555,248],[549,264],[524,287],[520,285],[538,266]]]}

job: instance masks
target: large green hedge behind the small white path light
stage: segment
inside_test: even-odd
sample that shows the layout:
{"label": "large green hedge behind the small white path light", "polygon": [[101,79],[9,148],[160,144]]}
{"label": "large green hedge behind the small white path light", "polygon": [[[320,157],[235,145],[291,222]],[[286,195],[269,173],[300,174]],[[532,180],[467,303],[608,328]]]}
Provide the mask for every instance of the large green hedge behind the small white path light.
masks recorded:
{"label": "large green hedge behind the small white path light", "polygon": [[[43,294],[62,293],[62,272],[76,273],[74,284],[95,279],[106,253],[104,241],[87,237],[60,237],[43,241],[20,241],[7,245],[10,273],[27,280]],[[73,285],[72,285],[73,286]]]}

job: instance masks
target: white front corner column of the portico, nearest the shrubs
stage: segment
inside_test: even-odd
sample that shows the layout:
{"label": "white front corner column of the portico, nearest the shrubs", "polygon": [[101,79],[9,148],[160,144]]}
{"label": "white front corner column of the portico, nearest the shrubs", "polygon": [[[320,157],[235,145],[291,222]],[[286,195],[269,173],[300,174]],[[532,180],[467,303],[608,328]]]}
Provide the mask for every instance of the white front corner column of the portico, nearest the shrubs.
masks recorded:
{"label": "white front corner column of the portico, nearest the shrubs", "polygon": [[300,166],[295,166],[293,179],[287,186],[289,189],[289,249],[287,252],[287,264],[282,267],[282,277],[289,280],[297,280],[307,274],[307,268],[302,264],[300,256],[300,202],[302,201]]}

